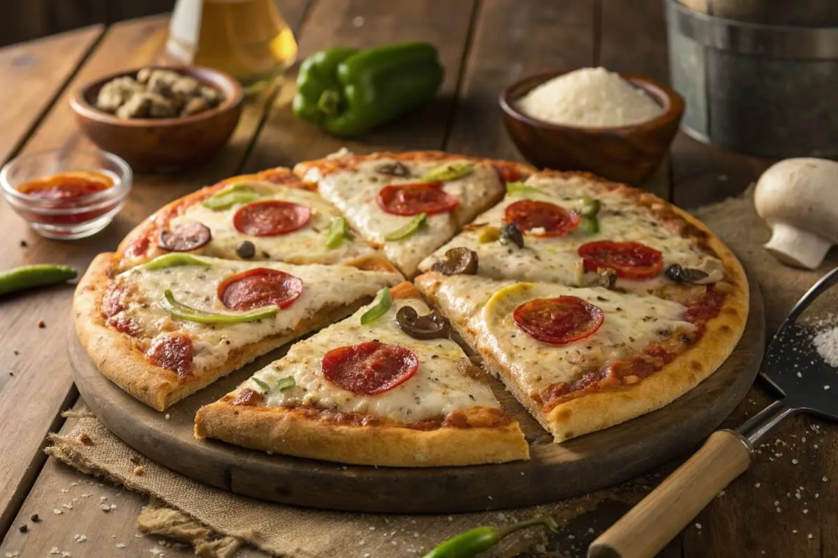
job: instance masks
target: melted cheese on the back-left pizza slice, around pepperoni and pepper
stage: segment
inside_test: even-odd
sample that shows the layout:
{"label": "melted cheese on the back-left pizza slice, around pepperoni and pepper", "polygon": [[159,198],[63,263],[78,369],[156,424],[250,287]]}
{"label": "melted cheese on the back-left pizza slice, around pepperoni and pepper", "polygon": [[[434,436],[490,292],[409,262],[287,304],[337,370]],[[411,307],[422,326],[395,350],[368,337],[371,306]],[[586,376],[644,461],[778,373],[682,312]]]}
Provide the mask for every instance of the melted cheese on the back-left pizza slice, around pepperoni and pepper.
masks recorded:
{"label": "melted cheese on the back-left pizza slice, around pepperoni and pepper", "polygon": [[[326,247],[326,235],[338,210],[315,192],[270,182],[246,182],[248,187],[265,195],[257,201],[281,200],[309,207],[311,219],[302,228],[273,237],[254,237],[240,233],[233,226],[233,216],[244,204],[235,203],[226,209],[210,209],[203,203],[190,206],[183,215],[173,218],[171,226],[198,222],[209,227],[212,240],[195,253],[225,259],[240,259],[235,248],[249,240],[256,248],[253,260],[276,260],[289,264],[338,264],[372,253],[373,248],[360,238],[346,239],[337,248]],[[220,192],[224,192],[221,190]]]}

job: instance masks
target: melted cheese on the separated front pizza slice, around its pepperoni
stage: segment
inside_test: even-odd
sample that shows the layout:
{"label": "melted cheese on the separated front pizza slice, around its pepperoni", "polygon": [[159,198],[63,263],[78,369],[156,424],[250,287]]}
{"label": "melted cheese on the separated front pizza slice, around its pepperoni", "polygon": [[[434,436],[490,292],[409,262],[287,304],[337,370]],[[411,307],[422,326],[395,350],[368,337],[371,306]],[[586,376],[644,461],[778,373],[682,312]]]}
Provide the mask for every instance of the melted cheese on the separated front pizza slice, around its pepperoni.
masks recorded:
{"label": "melted cheese on the separated front pizza slice, around its pepperoni", "polygon": [[[458,362],[466,358],[452,340],[416,340],[396,325],[396,312],[410,305],[420,315],[430,309],[420,299],[397,299],[385,315],[361,325],[360,315],[366,308],[338,324],[331,325],[307,340],[291,347],[287,355],[254,375],[271,386],[266,393],[270,407],[316,405],[335,412],[356,412],[383,417],[396,422],[418,422],[442,417],[468,407],[499,408],[487,384],[463,374]],[[377,395],[361,395],[334,385],[323,377],[323,355],[340,346],[351,346],[370,340],[402,346],[419,358],[419,368],[407,381]],[[291,376],[296,385],[280,390],[277,382]],[[256,381],[245,381],[240,387],[265,393]]]}

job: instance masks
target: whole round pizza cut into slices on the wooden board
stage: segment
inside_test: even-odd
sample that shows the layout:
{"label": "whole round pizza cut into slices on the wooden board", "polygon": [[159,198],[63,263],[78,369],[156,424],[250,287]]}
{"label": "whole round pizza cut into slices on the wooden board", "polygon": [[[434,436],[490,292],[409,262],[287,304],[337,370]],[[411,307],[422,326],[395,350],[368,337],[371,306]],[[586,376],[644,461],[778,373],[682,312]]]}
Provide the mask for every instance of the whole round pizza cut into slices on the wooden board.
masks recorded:
{"label": "whole round pizza cut into slices on the wooden board", "polygon": [[[418,290],[399,269],[422,273]],[[747,304],[737,259],[658,197],[412,151],[182,197],[93,261],[73,312],[102,373],[158,410],[317,331],[202,407],[195,435],[422,467],[529,456],[458,343],[561,442],[695,387],[736,346]]]}

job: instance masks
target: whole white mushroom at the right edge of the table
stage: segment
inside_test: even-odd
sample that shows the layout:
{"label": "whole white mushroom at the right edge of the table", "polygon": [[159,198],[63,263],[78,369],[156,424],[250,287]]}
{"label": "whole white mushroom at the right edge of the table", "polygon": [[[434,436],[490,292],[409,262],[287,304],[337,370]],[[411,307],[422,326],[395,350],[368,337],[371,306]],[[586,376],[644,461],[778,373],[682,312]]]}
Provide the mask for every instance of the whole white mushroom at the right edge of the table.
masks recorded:
{"label": "whole white mushroom at the right edge of the table", "polygon": [[784,264],[815,269],[838,244],[838,162],[779,161],[759,177],[753,202],[771,227],[765,249]]}

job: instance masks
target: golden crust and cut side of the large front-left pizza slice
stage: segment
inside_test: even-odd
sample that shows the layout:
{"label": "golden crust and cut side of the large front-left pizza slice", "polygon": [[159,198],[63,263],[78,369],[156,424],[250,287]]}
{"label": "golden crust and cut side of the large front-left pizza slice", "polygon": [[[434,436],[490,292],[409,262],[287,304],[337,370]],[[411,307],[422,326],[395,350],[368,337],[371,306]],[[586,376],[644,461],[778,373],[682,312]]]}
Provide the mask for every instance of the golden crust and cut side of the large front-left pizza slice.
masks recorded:
{"label": "golden crust and cut side of the large front-left pizza slice", "polygon": [[134,346],[131,337],[107,327],[102,319],[101,299],[110,281],[109,271],[116,264],[116,259],[115,253],[96,256],[76,287],[73,297],[76,335],[103,375],[132,397],[158,411],[164,411],[184,397],[245,366],[257,356],[283,346],[308,331],[342,320],[365,303],[362,299],[352,305],[323,309],[289,335],[267,337],[244,347],[234,358],[227,360],[224,366],[178,381],[176,373],[149,363],[142,351]]}

